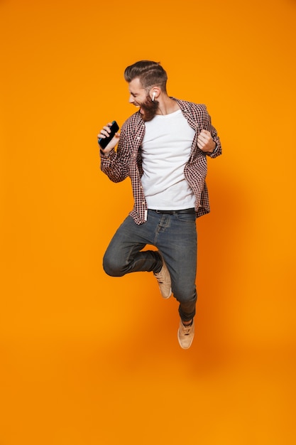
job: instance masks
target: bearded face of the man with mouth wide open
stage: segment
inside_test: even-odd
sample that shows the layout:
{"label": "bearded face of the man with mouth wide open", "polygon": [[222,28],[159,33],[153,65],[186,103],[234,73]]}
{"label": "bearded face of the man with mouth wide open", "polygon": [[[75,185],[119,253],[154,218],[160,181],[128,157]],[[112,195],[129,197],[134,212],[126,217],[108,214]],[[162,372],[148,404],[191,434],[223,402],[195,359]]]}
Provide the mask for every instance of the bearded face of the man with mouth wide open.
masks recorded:
{"label": "bearded face of the man with mouth wide open", "polygon": [[140,113],[144,121],[150,121],[158,110],[158,101],[152,101],[145,88],[142,87],[138,77],[128,84],[130,97],[128,102],[140,107]]}

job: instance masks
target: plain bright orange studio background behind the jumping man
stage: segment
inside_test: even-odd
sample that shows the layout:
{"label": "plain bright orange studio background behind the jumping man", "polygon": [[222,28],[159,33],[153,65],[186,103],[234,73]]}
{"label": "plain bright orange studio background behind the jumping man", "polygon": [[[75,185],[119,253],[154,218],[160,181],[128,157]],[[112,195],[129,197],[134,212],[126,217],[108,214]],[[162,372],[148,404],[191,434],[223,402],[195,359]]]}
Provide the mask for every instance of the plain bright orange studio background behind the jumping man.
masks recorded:
{"label": "plain bright orange studio background behind the jumping man", "polygon": [[[0,444],[292,444],[294,0],[1,0]],[[206,103],[224,154],[198,220],[197,333],[151,274],[106,276],[131,209],[97,133],[126,65]]]}

